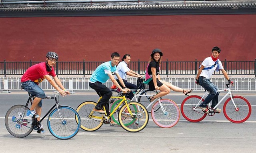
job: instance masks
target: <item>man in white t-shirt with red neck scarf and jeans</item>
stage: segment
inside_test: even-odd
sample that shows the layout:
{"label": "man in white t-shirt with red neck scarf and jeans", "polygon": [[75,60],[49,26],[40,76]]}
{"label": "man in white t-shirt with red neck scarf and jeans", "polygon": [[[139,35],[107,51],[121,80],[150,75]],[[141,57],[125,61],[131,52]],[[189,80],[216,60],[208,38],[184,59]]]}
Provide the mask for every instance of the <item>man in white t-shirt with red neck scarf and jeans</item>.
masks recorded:
{"label": "man in white t-shirt with red neck scarf and jeans", "polygon": [[[212,56],[204,59],[196,76],[196,84],[201,85],[202,87],[204,87],[204,89],[210,92],[210,94],[204,99],[204,102],[199,105],[199,108],[202,109],[205,113],[209,113],[206,106],[208,105],[208,103],[210,103],[211,100],[211,108],[215,107],[218,103],[219,92],[217,92],[217,90],[219,89],[210,81],[210,77],[212,76],[214,71],[221,70],[224,77],[228,80],[228,83],[233,85],[233,81],[230,81],[227,72],[224,70],[222,63],[218,59],[219,55],[220,48],[218,48],[217,46],[212,48]],[[220,113],[221,109],[216,108],[215,112]]]}

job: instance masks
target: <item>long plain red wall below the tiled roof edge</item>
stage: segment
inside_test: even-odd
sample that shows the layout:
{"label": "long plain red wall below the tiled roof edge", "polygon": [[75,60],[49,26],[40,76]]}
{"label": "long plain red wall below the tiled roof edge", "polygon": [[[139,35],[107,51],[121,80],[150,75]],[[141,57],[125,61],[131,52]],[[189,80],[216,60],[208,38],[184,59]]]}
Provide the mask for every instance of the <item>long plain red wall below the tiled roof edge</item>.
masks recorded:
{"label": "long plain red wall below the tiled roof edge", "polygon": [[0,18],[0,61],[107,61],[112,52],[148,61],[204,60],[219,46],[220,60],[256,58],[256,15],[168,15]]}

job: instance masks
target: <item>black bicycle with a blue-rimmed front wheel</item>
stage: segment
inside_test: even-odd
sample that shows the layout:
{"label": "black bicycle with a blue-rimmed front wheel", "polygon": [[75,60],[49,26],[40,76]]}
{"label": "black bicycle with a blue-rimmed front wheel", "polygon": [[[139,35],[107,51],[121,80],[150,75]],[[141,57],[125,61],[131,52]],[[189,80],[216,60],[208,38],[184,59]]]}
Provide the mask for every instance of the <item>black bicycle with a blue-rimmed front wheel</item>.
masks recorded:
{"label": "black bicycle with a blue-rimmed front wheel", "polygon": [[77,111],[70,106],[61,106],[58,102],[57,91],[54,91],[54,96],[47,96],[44,99],[55,99],[53,107],[42,117],[40,121],[36,116],[26,117],[26,112],[29,110],[28,105],[35,96],[28,93],[28,101],[25,105],[12,106],[5,115],[5,126],[7,131],[14,137],[26,137],[33,130],[38,130],[41,122],[49,114],[47,125],[50,133],[58,139],[70,139],[74,137],[81,126],[80,116]]}

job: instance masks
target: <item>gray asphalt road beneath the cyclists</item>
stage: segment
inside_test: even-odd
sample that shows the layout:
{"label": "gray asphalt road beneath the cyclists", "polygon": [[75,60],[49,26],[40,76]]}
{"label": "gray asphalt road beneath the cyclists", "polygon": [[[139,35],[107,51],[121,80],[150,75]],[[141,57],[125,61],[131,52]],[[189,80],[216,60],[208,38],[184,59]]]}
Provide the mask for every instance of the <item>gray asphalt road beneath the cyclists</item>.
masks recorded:
{"label": "gray asphalt road beneath the cyclists", "polygon": [[[46,92],[52,95],[52,92]],[[201,95],[202,92],[193,92]],[[160,128],[149,121],[147,127],[138,132],[130,133],[122,127],[103,125],[94,132],[79,131],[78,135],[70,140],[58,140],[47,129],[46,120],[42,122],[45,133],[37,134],[33,131],[25,138],[16,138],[10,135],[4,125],[6,111],[16,104],[25,104],[28,97],[24,91],[0,94],[0,146],[3,153],[39,152],[39,153],[196,153],[203,151],[234,153],[255,152],[256,149],[256,102],[255,93],[235,92],[234,95],[246,97],[252,105],[251,117],[245,123],[229,122],[223,115],[207,116],[199,123],[190,123],[180,117],[177,125],[170,129]],[[220,97],[223,95],[221,94]],[[170,93],[165,98],[172,99],[180,106],[185,98],[182,93]],[[96,101],[98,96],[93,91],[77,91],[67,97],[59,97],[61,105],[70,105],[76,108],[86,100]],[[52,107],[54,101],[45,99],[42,114]],[[220,106],[222,108],[222,105]]]}

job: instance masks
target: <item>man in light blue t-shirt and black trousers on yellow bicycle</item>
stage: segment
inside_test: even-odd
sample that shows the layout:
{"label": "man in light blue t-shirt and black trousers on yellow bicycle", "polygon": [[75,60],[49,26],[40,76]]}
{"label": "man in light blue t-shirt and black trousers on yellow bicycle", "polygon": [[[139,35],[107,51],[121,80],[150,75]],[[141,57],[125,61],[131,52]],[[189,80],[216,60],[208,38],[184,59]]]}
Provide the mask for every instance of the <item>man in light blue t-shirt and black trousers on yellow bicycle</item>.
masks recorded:
{"label": "man in light blue t-shirt and black trousers on yellow bicycle", "polygon": [[[94,89],[98,95],[102,96],[100,101],[96,104],[96,106],[93,108],[93,111],[98,113],[105,113],[103,110],[103,106],[105,106],[107,115],[110,115],[109,113],[109,104],[108,100],[112,96],[112,91],[106,87],[106,85],[102,84],[108,81],[108,79],[111,79],[111,81],[116,85],[119,89],[121,89],[122,92],[126,93],[127,91],[130,91],[125,85],[122,80],[122,78],[118,75],[118,72],[116,70],[116,65],[119,63],[120,55],[118,52],[114,52],[111,54],[110,61],[100,64],[98,68],[93,72],[92,77],[89,81],[89,86]],[[120,81],[122,87],[117,83],[116,79],[114,78],[114,74],[118,77],[118,80]],[[111,125],[116,125],[114,121],[111,120]]]}

